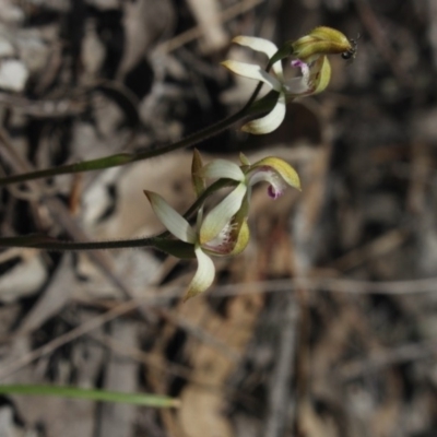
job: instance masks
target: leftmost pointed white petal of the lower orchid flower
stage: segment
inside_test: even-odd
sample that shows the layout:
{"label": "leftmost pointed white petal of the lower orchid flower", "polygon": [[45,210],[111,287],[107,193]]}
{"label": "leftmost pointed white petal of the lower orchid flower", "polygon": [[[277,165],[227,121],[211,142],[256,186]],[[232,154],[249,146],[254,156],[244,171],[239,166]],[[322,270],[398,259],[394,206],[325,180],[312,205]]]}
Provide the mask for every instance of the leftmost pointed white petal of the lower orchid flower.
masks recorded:
{"label": "leftmost pointed white petal of the lower orchid flower", "polygon": [[144,191],[144,194],[160,221],[176,238],[185,243],[193,244],[196,241],[194,229],[163,197],[152,191]]}

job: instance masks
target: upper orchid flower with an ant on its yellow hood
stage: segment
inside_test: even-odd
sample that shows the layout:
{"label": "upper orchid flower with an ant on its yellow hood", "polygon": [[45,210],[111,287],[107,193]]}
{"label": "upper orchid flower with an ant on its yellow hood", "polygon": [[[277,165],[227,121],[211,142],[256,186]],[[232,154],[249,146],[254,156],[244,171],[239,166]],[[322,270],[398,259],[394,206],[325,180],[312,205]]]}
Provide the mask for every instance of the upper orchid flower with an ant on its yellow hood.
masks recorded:
{"label": "upper orchid flower with an ant on its yellow hood", "polygon": [[[269,59],[276,57],[282,51],[273,43],[263,38],[237,36],[233,42],[263,52]],[[265,72],[256,64],[234,60],[222,62],[232,72],[244,78],[261,81],[277,92],[277,101],[273,109],[267,116],[243,126],[241,129],[246,132],[253,134],[272,132],[285,118],[286,103],[296,97],[321,93],[331,79],[331,67],[326,55],[342,54],[343,58],[349,59],[355,55],[356,43],[349,40],[339,31],[322,26],[316,27],[308,35],[294,43],[287,43],[285,49],[297,58],[292,61],[292,67],[300,69],[300,76],[285,80],[281,57],[272,66],[274,74]]]}

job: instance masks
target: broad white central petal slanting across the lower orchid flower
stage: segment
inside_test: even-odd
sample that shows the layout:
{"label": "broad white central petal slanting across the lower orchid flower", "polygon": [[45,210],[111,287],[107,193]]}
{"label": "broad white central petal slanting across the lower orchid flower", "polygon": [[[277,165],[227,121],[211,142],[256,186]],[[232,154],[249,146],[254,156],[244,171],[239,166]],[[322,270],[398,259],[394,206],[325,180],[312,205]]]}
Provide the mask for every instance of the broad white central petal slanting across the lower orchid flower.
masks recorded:
{"label": "broad white central petal slanting across the lower orchid flower", "polygon": [[246,185],[239,184],[208,213],[200,227],[199,239],[201,245],[213,240],[229,224],[231,218],[240,209],[246,191]]}

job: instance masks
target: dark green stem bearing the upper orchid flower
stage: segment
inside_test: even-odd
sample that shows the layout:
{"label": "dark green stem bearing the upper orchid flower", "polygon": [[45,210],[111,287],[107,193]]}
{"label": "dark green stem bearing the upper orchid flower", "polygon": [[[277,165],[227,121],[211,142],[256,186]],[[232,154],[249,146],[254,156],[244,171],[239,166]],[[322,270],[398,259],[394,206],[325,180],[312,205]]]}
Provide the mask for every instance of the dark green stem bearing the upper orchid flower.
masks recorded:
{"label": "dark green stem bearing the upper orchid flower", "polygon": [[[252,102],[255,99],[255,97],[258,95],[259,88],[259,86],[256,88],[249,102]],[[268,111],[275,104],[272,98],[274,98],[274,96],[272,97],[272,94],[269,93],[261,99],[262,102],[257,102],[257,105],[246,105],[243,109],[232,115],[231,117],[227,117],[224,120],[216,122],[215,125],[212,125],[205,129],[200,130],[199,132],[192,133],[191,135],[180,141],[177,141],[176,143],[169,144],[161,149],[139,153],[118,153],[116,155],[105,156],[97,160],[83,161],[81,163],[61,165],[59,167],[46,168],[44,170],[36,170],[24,173],[21,175],[9,176],[0,178],[0,187],[4,187],[9,184],[24,182],[26,180],[34,180],[44,177],[118,167],[120,165],[131,164],[137,161],[149,160],[155,156],[164,155],[177,149],[188,147],[203,140],[206,140],[210,137],[221,133],[225,129],[229,128],[231,126],[233,126],[237,121],[243,120],[246,117],[251,117]]]}

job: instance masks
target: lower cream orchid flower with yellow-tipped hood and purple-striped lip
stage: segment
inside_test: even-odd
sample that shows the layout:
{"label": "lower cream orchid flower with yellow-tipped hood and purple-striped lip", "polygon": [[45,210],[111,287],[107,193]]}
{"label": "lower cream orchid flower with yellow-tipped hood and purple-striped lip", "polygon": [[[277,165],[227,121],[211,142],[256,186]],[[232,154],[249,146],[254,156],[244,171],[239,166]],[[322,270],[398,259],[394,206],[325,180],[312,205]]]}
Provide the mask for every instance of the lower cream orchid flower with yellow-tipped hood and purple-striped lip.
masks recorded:
{"label": "lower cream orchid flower with yellow-tipped hood and purple-striped lip", "polygon": [[235,188],[208,214],[201,206],[194,225],[174,210],[160,194],[144,191],[153,211],[164,226],[176,238],[194,247],[198,270],[190,282],[184,300],[203,293],[214,281],[215,268],[211,256],[223,257],[240,253],[249,241],[247,215],[251,187],[259,181],[269,182],[268,193],[277,199],[286,186],[300,189],[295,169],[277,157],[265,157],[250,164],[240,154],[241,166],[226,160],[202,164],[194,150],[192,161],[192,185],[199,197],[205,189],[206,179],[231,179]]}

